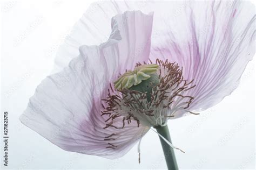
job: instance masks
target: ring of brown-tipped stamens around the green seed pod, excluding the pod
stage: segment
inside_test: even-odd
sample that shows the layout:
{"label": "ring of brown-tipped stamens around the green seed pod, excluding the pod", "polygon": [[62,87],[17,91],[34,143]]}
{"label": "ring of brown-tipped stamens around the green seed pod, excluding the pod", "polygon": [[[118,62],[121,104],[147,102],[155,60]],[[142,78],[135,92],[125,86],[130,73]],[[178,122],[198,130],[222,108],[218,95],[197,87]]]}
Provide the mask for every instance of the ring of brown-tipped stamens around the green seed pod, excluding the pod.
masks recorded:
{"label": "ring of brown-tipped stamens around the green seed pod, excluding the pod", "polygon": [[[150,64],[152,62],[150,61]],[[159,66],[157,74],[160,83],[152,88],[150,100],[147,92],[130,89],[114,89],[110,84],[107,97],[103,99],[102,116],[107,115],[106,128],[123,129],[132,121],[145,126],[164,126],[170,117],[175,117],[180,112],[193,112],[187,110],[194,97],[184,95],[187,90],[194,88],[193,80],[184,80],[183,70],[175,62],[157,59]],[[137,63],[136,67],[142,66]],[[107,105],[105,108],[104,105]],[[118,119],[117,119],[118,118]],[[122,118],[122,119],[120,119]],[[122,120],[122,126],[114,125],[116,120]],[[114,147],[114,146],[110,146]]]}

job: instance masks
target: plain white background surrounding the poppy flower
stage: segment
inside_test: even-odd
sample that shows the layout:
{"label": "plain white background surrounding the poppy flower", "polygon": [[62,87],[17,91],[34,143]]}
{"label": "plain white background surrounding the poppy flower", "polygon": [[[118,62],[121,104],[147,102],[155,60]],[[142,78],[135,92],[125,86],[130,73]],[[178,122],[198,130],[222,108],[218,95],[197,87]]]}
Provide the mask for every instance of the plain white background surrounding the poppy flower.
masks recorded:
{"label": "plain white background surrounding the poppy flower", "polygon": [[[8,168],[166,168],[159,138],[152,131],[142,140],[139,165],[137,147],[117,160],[66,152],[18,120],[37,85],[50,74],[58,46],[90,3],[2,3],[1,113],[9,113]],[[174,145],[186,151],[176,151],[180,169],[254,169],[254,67],[255,59],[248,63],[239,87],[215,107],[169,121]]]}

